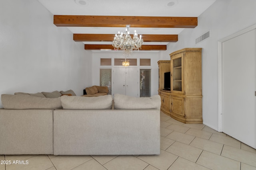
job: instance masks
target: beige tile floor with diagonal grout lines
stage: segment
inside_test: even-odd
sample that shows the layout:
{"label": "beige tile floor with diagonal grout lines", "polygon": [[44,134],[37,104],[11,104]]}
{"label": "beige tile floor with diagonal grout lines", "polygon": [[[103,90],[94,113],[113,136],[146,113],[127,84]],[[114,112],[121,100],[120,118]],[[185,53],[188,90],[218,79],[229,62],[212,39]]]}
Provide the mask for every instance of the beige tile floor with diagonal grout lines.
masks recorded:
{"label": "beige tile floor with diagonal grout lines", "polygon": [[160,113],[160,155],[0,155],[0,170],[256,170],[256,150],[203,124]]}

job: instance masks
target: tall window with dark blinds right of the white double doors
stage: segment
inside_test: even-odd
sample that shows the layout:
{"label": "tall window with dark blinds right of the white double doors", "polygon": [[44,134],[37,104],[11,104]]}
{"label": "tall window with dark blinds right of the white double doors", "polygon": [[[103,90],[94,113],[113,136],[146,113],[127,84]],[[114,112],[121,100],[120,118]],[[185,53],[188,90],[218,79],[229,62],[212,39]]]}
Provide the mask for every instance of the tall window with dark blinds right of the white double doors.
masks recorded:
{"label": "tall window with dark blinds right of the white double doors", "polygon": [[151,69],[140,69],[140,97],[151,96]]}

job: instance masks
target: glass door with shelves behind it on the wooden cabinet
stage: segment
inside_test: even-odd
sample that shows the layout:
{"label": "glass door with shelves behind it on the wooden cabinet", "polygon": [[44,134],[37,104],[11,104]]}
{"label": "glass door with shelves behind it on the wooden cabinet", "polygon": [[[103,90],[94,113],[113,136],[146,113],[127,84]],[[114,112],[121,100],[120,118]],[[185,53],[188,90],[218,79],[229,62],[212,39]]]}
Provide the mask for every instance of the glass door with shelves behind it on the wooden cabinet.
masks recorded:
{"label": "glass door with shelves behind it on the wooden cabinet", "polygon": [[172,61],[173,90],[182,91],[182,58]]}

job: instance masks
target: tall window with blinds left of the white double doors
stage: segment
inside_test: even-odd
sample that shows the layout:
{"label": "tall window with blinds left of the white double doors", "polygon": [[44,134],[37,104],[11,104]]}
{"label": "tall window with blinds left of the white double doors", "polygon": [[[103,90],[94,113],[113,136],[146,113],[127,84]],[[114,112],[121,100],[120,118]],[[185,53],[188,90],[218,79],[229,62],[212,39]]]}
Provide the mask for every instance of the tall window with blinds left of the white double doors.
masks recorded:
{"label": "tall window with blinds left of the white double doors", "polygon": [[100,68],[100,86],[108,87],[108,94],[111,94],[111,68]]}

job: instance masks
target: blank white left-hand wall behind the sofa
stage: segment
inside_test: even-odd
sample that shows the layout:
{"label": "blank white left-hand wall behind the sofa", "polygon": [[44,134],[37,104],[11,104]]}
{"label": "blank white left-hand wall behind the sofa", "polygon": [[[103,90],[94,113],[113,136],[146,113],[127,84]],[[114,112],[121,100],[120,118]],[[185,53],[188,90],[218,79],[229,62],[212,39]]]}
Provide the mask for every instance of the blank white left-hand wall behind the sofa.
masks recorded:
{"label": "blank white left-hand wall behind the sofa", "polygon": [[92,52],[56,27],[40,2],[0,1],[0,94],[72,89],[82,95],[92,82],[91,63]]}

